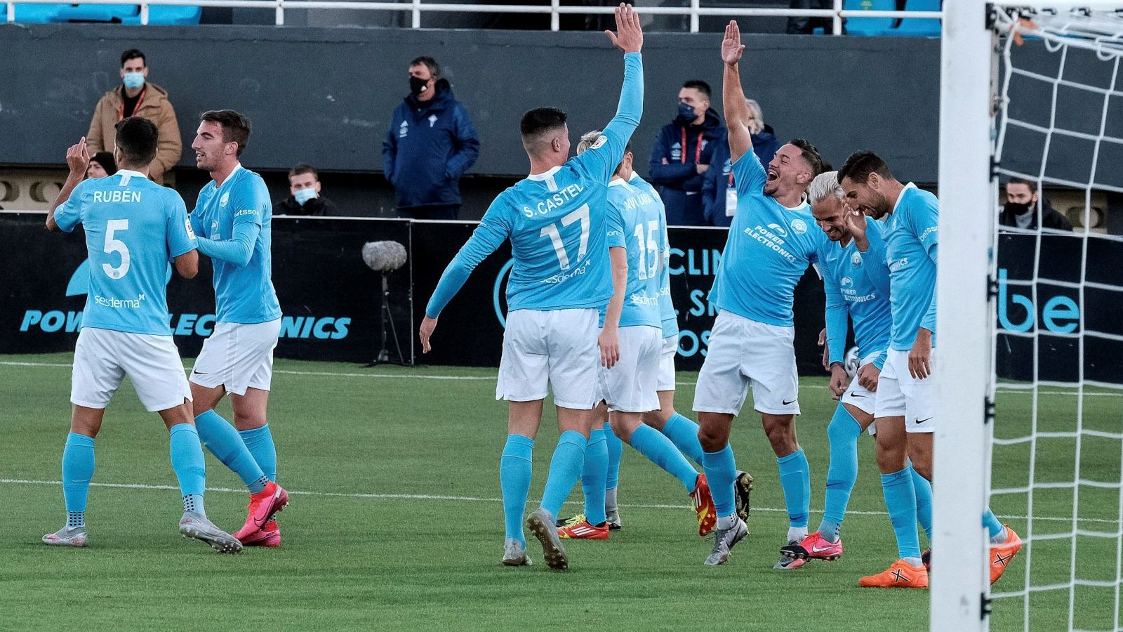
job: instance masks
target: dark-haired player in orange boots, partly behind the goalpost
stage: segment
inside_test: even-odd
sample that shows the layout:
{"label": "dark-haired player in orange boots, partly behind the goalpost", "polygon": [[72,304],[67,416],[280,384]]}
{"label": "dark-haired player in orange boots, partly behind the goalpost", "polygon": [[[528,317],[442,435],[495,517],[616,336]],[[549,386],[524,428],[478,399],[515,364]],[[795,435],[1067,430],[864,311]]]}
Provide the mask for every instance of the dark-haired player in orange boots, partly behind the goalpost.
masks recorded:
{"label": "dark-haired player in orange boots, partly behind the goalpost", "polygon": [[[889,166],[873,152],[858,152],[839,170],[839,182],[848,204],[856,210],[880,219],[889,216],[885,228],[886,261],[889,268],[889,301],[893,328],[885,367],[878,379],[874,417],[877,434],[892,432],[904,436],[913,468],[932,480],[932,432],[935,430],[935,383],[932,374],[935,349],[935,274],[939,243],[940,205],[935,196],[915,184],[902,184]],[[907,496],[911,475],[902,469],[894,475]],[[884,477],[883,477],[884,481]],[[884,484],[883,484],[884,485]],[[886,493],[888,500],[888,493]],[[904,502],[894,511],[907,511]],[[901,516],[912,521],[915,516]],[[1005,572],[1010,560],[1022,548],[1014,530],[1003,525],[990,509],[983,514],[983,525],[990,535],[990,583]],[[900,536],[900,534],[898,534]],[[928,586],[928,571],[919,547],[903,551],[888,570],[862,577],[859,586],[921,588]]]}

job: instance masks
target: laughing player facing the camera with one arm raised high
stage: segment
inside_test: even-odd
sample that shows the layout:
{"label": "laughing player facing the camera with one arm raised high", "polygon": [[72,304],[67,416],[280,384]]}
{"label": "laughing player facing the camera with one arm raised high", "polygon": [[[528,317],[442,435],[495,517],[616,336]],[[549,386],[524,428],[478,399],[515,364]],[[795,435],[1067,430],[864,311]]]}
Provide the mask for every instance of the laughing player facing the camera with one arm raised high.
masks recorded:
{"label": "laughing player facing the camera with one arm raised high", "polygon": [[[795,285],[824,240],[803,201],[807,186],[822,170],[822,159],[813,145],[797,138],[776,152],[767,170],[757,160],[738,70],[743,51],[737,21],[730,21],[721,44],[725,66],[722,98],[737,182],[737,214],[710,294],[719,313],[694,394],[702,462],[718,509],[716,536],[706,565],[724,563],[733,545],[748,533],[745,521],[734,513],[737,467],[729,432],[749,387],[779,464],[791,525],[787,543],[806,536],[811,503],[807,458],[795,437],[800,382],[792,303]],[[789,562],[782,556],[776,568],[786,568]]]}

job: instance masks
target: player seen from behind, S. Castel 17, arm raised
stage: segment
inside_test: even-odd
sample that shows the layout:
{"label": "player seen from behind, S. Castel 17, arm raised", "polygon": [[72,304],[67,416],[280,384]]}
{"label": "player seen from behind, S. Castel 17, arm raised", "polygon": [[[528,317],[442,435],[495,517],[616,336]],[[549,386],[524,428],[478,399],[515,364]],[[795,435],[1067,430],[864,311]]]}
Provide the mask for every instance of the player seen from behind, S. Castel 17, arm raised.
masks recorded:
{"label": "player seen from behind, S. Castel 17, arm raised", "polygon": [[612,297],[605,196],[643,108],[643,31],[629,4],[620,4],[615,18],[617,34],[609,31],[608,36],[624,52],[624,83],[617,115],[593,146],[573,160],[567,160],[565,112],[536,108],[523,115],[520,130],[530,175],[492,202],[441,274],[419,332],[422,350],[428,352],[441,310],[472,270],[510,240],[514,269],[506,289],[509,313],[495,388],[496,399],[509,403],[508,440],[500,460],[506,525],[503,563],[508,566],[530,561],[522,513],[542,400],[553,388],[562,436],[550,461],[541,507],[526,522],[542,543],[546,563],[559,570],[568,567],[555,516],[581,475],[588,432],[596,421],[597,362],[611,367],[620,354],[618,323],[611,320],[612,315],[597,335],[599,308]]}

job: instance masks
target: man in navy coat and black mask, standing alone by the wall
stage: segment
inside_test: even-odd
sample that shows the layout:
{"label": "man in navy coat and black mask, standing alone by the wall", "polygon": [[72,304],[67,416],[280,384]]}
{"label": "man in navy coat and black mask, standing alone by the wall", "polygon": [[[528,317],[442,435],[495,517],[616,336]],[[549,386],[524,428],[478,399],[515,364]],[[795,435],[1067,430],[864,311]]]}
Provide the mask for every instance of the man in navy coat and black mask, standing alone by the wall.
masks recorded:
{"label": "man in navy coat and black mask, standing alone by the wall", "polygon": [[460,177],[480,156],[468,110],[453,96],[432,57],[410,62],[410,93],[398,106],[382,144],[386,180],[398,196],[398,216],[456,219]]}

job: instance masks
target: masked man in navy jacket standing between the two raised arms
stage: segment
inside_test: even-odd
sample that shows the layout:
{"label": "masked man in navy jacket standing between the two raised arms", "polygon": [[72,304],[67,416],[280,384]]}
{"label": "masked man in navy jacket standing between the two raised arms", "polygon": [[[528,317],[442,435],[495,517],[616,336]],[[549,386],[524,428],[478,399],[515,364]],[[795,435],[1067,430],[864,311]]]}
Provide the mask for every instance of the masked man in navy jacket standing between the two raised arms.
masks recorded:
{"label": "masked man in navy jacket standing between the two raised arms", "polygon": [[667,208],[672,226],[704,226],[702,177],[713,148],[725,142],[725,128],[710,107],[710,84],[691,80],[678,91],[678,112],[664,126],[651,147],[648,172]]}

